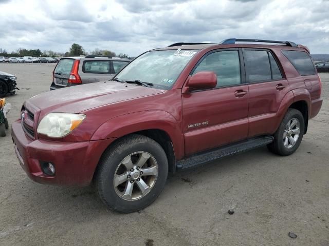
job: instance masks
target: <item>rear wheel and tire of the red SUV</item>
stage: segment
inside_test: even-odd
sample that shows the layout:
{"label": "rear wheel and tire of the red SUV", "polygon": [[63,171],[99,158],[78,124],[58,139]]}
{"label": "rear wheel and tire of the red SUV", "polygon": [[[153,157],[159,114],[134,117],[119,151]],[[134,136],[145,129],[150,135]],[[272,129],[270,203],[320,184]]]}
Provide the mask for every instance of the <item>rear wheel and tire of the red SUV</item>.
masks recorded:
{"label": "rear wheel and tire of the red SUV", "polygon": [[305,129],[302,113],[297,109],[288,109],[274,134],[274,141],[267,148],[281,156],[293,154],[299,147]]}

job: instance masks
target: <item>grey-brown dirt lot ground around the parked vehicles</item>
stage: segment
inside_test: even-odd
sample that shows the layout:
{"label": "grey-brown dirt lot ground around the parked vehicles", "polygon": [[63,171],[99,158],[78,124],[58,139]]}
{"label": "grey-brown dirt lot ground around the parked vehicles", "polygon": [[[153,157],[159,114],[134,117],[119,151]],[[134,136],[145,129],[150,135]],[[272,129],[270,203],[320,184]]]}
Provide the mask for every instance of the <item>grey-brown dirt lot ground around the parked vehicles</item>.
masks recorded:
{"label": "grey-brown dirt lot ground around the parked vehicles", "polygon": [[[48,91],[53,67],[0,64],[21,88],[7,97],[9,122],[24,100]],[[8,132],[0,137],[0,245],[329,245],[329,74],[321,78],[322,109],[295,154],[261,148],[170,175],[150,207],[127,215],[107,210],[90,188],[31,181]]]}

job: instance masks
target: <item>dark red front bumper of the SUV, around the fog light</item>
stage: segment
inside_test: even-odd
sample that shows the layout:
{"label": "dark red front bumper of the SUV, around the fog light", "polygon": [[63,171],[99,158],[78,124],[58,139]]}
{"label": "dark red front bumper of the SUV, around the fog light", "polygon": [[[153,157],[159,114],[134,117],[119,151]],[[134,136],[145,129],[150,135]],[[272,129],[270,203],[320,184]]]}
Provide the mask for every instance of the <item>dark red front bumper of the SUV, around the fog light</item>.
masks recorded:
{"label": "dark red front bumper of the SUV, around the fog light", "polygon": [[[54,185],[87,186],[92,181],[99,159],[115,138],[97,141],[56,142],[31,139],[21,120],[12,124],[11,135],[20,165],[34,181]],[[42,171],[40,161],[51,162],[55,175]]]}

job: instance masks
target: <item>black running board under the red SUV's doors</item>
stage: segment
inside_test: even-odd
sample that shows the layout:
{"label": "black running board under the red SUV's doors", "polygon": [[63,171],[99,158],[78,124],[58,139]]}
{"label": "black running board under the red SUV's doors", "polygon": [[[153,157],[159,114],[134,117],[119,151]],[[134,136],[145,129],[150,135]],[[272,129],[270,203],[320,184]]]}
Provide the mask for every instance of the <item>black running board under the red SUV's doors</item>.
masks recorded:
{"label": "black running board under the red SUV's doors", "polygon": [[186,159],[177,161],[176,169],[177,171],[180,171],[188,168],[193,168],[198,165],[202,165],[208,161],[220,159],[232,154],[241,153],[247,150],[268,145],[273,141],[273,139],[274,138],[272,136],[260,136],[236,142],[234,144],[223,146],[213,150],[200,152]]}

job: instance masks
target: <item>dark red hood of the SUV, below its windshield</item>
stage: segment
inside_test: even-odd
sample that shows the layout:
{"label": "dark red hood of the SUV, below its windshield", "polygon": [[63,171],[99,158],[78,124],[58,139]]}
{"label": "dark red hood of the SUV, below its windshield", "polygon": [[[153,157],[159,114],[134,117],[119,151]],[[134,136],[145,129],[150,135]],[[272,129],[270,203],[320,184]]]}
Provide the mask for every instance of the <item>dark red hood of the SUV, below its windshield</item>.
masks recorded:
{"label": "dark red hood of the SUV, below its windshield", "polygon": [[43,114],[49,112],[80,113],[106,104],[150,96],[163,91],[107,80],[42,93],[31,97],[26,105],[32,104],[44,111]]}

